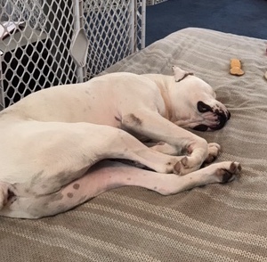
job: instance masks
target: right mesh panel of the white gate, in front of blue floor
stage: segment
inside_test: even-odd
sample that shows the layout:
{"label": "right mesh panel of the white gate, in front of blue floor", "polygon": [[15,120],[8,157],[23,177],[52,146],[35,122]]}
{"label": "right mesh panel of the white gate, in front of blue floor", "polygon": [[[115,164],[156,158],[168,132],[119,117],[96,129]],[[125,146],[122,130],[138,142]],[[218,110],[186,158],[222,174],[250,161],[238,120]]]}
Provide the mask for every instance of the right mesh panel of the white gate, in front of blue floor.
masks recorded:
{"label": "right mesh panel of the white gate, in front of blue floor", "polygon": [[91,0],[84,12],[88,78],[144,47],[145,1]]}

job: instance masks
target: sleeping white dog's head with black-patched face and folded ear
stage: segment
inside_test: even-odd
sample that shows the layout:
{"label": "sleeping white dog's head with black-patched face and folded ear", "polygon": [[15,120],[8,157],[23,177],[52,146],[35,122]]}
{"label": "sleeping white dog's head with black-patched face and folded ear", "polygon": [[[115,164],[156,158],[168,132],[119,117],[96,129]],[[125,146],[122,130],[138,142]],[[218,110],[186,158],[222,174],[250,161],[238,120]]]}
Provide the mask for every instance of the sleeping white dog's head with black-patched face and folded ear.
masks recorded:
{"label": "sleeping white dog's head with black-patched face and folded ear", "polygon": [[178,126],[199,131],[212,131],[224,127],[231,114],[222,102],[216,100],[213,88],[188,71],[176,66],[173,67],[173,71],[174,122]]}

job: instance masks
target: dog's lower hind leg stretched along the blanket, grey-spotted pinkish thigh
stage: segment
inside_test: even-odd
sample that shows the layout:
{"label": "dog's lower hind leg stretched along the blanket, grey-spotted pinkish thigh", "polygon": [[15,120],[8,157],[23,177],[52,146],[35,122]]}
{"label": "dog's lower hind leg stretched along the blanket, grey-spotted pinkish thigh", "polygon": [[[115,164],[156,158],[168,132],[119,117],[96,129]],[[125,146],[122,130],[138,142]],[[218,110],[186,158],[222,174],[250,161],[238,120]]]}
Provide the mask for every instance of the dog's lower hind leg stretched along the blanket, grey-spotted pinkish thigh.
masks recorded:
{"label": "dog's lower hind leg stretched along the blanket, grey-spotted pinkish thigh", "polygon": [[53,216],[72,209],[101,192],[125,185],[142,186],[169,195],[200,185],[230,182],[239,171],[239,163],[221,162],[185,176],[177,176],[105,160],[96,164],[85,176],[53,194],[31,198],[13,196],[4,209],[0,210],[0,216],[21,218]]}

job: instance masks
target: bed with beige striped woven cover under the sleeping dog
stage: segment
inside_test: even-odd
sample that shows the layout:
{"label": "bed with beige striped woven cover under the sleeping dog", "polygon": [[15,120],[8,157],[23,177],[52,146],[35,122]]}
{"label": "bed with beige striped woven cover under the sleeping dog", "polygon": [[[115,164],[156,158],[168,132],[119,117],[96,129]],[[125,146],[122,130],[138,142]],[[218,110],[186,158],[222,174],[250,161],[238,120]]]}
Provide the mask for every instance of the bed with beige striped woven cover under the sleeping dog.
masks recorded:
{"label": "bed with beige striped woven cover under the sleeping dog", "polygon": [[[230,75],[231,58],[244,76]],[[239,179],[173,196],[122,187],[55,217],[0,217],[1,261],[267,261],[266,41],[182,29],[103,73],[171,74],[174,64],[231,111],[222,130],[195,133],[222,145],[217,161],[242,164]]]}

